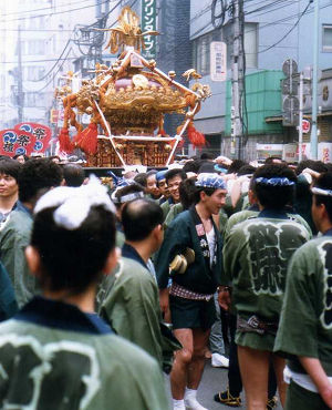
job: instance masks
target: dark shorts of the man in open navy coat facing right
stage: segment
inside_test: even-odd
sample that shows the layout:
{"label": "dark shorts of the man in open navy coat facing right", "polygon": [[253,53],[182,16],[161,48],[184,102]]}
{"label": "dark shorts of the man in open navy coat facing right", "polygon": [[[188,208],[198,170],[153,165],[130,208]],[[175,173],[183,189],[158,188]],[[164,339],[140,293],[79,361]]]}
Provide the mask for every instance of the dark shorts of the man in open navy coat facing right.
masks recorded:
{"label": "dark shorts of the man in open navy coat facing right", "polygon": [[216,320],[215,300],[191,300],[169,296],[173,329],[208,330]]}

